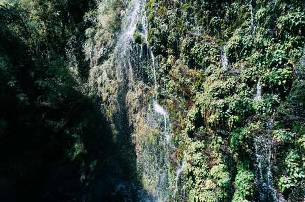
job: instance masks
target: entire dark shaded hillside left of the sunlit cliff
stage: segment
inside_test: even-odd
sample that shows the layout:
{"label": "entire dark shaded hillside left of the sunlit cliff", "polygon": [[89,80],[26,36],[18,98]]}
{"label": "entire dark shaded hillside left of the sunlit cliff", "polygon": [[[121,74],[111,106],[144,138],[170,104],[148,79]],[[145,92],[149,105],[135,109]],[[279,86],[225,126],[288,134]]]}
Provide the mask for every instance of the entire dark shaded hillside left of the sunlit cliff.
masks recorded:
{"label": "entire dark shaded hillside left of the sunlit cliff", "polygon": [[[83,14],[80,2],[85,3],[72,6]],[[84,36],[76,27],[83,26],[82,17],[77,18],[77,9],[69,10],[72,3],[52,2],[57,10],[70,11],[70,17],[62,12],[65,15],[50,19],[53,11],[40,3],[45,13],[36,17],[52,27],[46,36],[20,5],[0,7],[0,201],[148,197],[136,172],[126,108],[118,112],[121,127],[114,141],[101,98],[83,82],[88,75],[79,48]],[[76,36],[80,75],[69,69],[66,33]]]}

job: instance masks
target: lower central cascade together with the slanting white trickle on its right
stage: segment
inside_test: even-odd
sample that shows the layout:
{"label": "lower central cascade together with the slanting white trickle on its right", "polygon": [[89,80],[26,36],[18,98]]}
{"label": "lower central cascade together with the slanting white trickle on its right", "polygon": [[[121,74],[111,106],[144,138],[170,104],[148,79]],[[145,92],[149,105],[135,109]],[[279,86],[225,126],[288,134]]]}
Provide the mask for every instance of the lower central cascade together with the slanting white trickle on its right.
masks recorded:
{"label": "lower central cascade together with the slanting white trickle on its right", "polygon": [[[155,100],[151,102],[151,107],[147,111],[147,122],[152,128],[157,128],[160,131],[160,137],[157,138],[157,143],[155,145],[149,144],[145,148],[145,152],[149,156],[154,157],[154,162],[149,162],[154,164],[152,170],[155,171],[155,192],[156,200],[160,202],[164,201],[179,201],[178,198],[178,183],[181,178],[182,172],[186,167],[186,161],[183,161],[180,166],[175,166],[175,176],[171,177],[170,169],[170,156],[177,149],[171,143],[171,133],[170,133],[170,122],[169,116],[166,110],[160,106]],[[177,163],[178,164],[178,163]],[[151,170],[151,165],[147,165]],[[151,171],[146,171],[151,173]]]}

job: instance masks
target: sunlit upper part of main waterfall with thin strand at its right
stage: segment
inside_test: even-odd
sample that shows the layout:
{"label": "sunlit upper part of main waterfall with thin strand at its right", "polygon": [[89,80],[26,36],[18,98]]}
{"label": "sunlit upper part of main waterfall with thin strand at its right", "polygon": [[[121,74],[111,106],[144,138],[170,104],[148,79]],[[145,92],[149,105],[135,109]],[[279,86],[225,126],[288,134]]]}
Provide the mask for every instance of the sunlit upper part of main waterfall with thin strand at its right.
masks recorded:
{"label": "sunlit upper part of main waterfall with thin strand at its right", "polygon": [[[147,40],[148,23],[145,3],[144,0],[133,0],[130,2],[126,11],[121,12],[123,15],[122,31],[114,48],[114,62],[120,78],[127,83],[129,82],[128,80],[133,79],[132,68],[138,68],[138,71],[143,72],[143,66],[146,65],[145,62],[150,63],[150,69],[154,76],[154,85],[157,91],[155,57],[148,46]],[[139,45],[134,42],[134,34],[137,30],[141,32],[140,35],[146,43],[146,49],[149,52],[147,57],[143,54],[145,52],[143,45],[141,45],[141,50],[137,51]]]}

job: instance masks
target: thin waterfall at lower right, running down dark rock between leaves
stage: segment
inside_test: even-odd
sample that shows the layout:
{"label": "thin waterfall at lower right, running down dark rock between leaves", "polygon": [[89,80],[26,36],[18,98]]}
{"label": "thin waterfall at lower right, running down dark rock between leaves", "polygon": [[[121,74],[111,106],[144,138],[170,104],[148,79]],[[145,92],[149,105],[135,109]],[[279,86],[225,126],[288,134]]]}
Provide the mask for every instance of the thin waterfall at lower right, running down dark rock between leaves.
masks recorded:
{"label": "thin waterfall at lower right, running down dark rock between leaves", "polygon": [[[273,120],[266,123],[269,131],[275,126]],[[278,201],[277,193],[273,187],[273,176],[271,172],[272,162],[272,136],[271,132],[263,132],[254,139],[255,156],[257,160],[257,184],[259,188],[260,201]]]}

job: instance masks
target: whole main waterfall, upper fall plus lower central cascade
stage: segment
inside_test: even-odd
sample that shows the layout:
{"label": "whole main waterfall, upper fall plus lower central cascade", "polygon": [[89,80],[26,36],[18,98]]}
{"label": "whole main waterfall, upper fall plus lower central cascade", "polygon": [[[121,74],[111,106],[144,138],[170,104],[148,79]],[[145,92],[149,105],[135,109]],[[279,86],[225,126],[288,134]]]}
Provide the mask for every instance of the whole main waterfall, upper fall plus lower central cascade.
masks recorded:
{"label": "whole main waterfall, upper fall plus lower central cascade", "polygon": [[[157,93],[157,73],[155,66],[155,58],[153,52],[148,47],[148,23],[145,15],[145,1],[133,0],[129,4],[129,8],[122,12],[125,17],[122,21],[122,32],[118,38],[117,45],[114,49],[114,65],[116,67],[117,75],[120,78],[118,86],[118,113],[115,115],[115,124],[119,133],[126,133],[125,138],[119,140],[122,142],[124,148],[124,141],[130,137],[130,126],[126,120],[127,117],[127,100],[126,95],[128,91],[136,88],[139,80],[143,80],[140,74],[145,74],[145,66],[150,66],[150,73],[153,75],[155,92]],[[134,40],[135,32],[139,34],[143,43],[137,44]],[[139,33],[140,32],[140,33]],[[148,73],[146,72],[148,75]],[[145,78],[144,78],[145,79]],[[146,143],[144,146],[144,153],[140,154],[142,170],[148,179],[144,179],[144,184],[153,184],[154,188],[148,187],[149,192],[152,192],[154,201],[169,201],[170,195],[173,191],[173,180],[170,175],[170,155],[176,148],[171,143],[171,132],[169,116],[165,109],[163,109],[155,100],[151,107],[146,111],[146,123],[160,136],[153,137],[156,144]],[[126,132],[126,131],[129,131]],[[128,136],[129,134],[129,136]],[[124,149],[123,149],[124,150]],[[126,152],[123,152],[126,153]],[[176,179],[179,179],[184,165],[177,170]],[[150,176],[150,177],[149,177]],[[147,182],[146,182],[146,181]],[[148,182],[149,181],[149,182]],[[121,186],[124,187],[124,186]],[[121,188],[120,187],[120,188]],[[177,184],[176,184],[177,187]],[[143,200],[143,198],[138,198]],[[144,199],[147,200],[147,199]]]}

